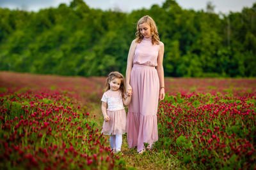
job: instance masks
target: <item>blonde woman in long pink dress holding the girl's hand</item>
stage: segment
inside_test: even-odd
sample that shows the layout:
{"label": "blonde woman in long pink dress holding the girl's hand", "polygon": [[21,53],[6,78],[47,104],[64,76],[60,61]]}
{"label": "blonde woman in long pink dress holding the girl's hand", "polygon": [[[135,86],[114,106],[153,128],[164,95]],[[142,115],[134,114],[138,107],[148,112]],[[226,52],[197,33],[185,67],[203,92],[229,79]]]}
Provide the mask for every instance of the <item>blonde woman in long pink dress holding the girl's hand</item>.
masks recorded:
{"label": "blonde woman in long pink dress holding the girl's hand", "polygon": [[128,107],[127,141],[129,148],[137,146],[139,154],[158,140],[157,106],[164,99],[164,44],[160,41],[156,23],[147,16],[137,24],[136,39],[131,43],[126,69],[127,94],[132,94]]}

